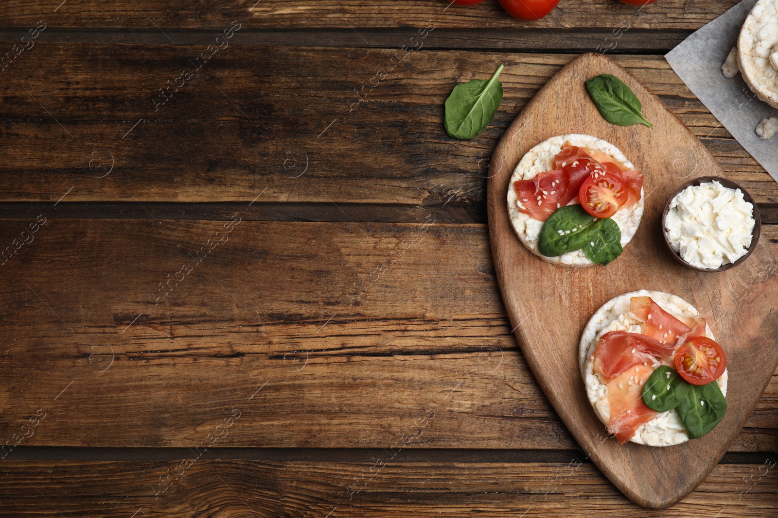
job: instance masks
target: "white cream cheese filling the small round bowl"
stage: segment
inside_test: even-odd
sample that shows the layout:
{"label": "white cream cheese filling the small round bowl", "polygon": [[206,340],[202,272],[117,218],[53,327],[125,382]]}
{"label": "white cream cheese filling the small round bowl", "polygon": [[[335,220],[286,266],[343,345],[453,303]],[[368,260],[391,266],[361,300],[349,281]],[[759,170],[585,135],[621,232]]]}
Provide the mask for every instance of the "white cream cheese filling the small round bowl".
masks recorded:
{"label": "white cream cheese filling the small round bowl", "polygon": [[740,189],[717,181],[689,186],[670,202],[664,231],[675,252],[692,266],[714,269],[748,252],[754,206]]}

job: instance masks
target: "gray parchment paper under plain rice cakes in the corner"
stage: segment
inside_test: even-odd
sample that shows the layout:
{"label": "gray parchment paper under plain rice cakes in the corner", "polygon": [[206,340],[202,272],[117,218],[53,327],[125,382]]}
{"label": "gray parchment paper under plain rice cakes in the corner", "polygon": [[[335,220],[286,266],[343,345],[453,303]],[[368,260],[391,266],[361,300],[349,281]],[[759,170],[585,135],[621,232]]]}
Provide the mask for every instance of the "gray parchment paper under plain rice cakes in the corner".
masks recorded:
{"label": "gray parchment paper under plain rice cakes in the corner", "polygon": [[778,180],[778,134],[762,140],[754,131],[763,118],[778,116],[778,110],[757,99],[739,73],[734,78],[721,73],[721,65],[737,43],[740,28],[755,3],[743,0],[686,38],[665,58],[710,113]]}

